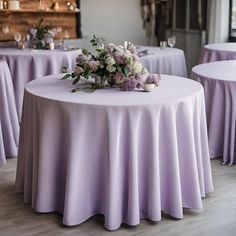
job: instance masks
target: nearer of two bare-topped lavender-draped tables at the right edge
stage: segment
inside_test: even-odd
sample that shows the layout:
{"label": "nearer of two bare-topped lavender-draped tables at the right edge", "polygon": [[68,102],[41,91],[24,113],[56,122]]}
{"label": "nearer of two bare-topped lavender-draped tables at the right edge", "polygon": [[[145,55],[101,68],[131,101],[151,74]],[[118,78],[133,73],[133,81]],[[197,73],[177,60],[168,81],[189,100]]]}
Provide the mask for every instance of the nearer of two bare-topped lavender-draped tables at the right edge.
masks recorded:
{"label": "nearer of two bare-topped lavender-draped tables at the right edge", "polygon": [[223,164],[236,162],[236,61],[195,66],[192,78],[205,92],[211,157],[223,156]]}

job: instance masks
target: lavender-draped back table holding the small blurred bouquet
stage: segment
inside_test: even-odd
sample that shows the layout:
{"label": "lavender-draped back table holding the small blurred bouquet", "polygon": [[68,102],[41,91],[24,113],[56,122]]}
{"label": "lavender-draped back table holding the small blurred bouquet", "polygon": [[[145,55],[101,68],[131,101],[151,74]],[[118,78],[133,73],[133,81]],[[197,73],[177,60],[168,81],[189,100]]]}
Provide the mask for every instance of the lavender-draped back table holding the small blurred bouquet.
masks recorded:
{"label": "lavender-draped back table holding the small blurred bouquet", "polygon": [[19,117],[21,117],[25,84],[45,75],[58,74],[62,72],[63,66],[67,66],[69,70],[74,69],[79,53],[81,50],[1,48],[0,59],[7,61],[11,72]]}

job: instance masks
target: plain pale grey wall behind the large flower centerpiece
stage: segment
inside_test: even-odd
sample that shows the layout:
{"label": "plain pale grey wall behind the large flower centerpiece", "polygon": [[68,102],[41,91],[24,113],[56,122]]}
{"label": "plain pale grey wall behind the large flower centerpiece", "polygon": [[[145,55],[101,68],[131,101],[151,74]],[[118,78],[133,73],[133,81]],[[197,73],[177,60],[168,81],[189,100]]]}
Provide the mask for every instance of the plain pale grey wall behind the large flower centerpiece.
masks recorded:
{"label": "plain pale grey wall behind the large flower centerpiece", "polygon": [[147,44],[140,0],[81,0],[80,8],[83,44],[93,34],[106,42]]}

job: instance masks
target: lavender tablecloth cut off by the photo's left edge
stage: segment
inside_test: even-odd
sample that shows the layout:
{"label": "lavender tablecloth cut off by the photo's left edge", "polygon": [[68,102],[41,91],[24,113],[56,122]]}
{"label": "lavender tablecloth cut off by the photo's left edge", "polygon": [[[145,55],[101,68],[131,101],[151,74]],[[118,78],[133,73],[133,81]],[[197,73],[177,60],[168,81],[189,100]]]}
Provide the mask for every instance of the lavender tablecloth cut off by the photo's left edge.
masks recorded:
{"label": "lavender tablecloth cut off by the photo's left edge", "polygon": [[18,152],[19,120],[12,79],[5,61],[0,61],[0,165],[6,163],[6,156]]}

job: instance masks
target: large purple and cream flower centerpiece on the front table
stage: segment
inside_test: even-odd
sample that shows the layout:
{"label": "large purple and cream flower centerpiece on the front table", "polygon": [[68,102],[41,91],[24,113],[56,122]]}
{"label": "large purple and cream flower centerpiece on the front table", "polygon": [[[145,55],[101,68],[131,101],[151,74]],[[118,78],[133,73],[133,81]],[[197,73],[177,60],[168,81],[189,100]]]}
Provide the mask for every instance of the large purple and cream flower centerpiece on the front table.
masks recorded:
{"label": "large purple and cream flower centerpiece on the front table", "polygon": [[[98,46],[97,54],[83,49],[82,54],[76,59],[75,71],[66,74],[62,79],[72,78],[73,85],[83,81],[88,91],[106,87],[119,87],[123,91],[131,91],[144,89],[146,83],[158,86],[160,76],[149,74],[142,66],[133,44],[127,42],[123,46],[104,44],[95,35],[91,43],[93,46]],[[81,90],[80,85],[72,92]]]}

